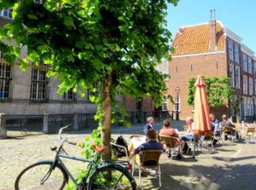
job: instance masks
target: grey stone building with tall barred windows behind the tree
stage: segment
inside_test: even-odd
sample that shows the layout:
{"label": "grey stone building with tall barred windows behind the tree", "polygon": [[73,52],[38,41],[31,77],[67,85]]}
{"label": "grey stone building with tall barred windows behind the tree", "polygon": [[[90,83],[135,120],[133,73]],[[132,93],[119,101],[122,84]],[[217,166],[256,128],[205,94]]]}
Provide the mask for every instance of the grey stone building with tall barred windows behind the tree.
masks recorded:
{"label": "grey stone building with tall barred windows behind the tree", "polygon": [[[0,27],[12,20],[12,11],[4,9],[0,14]],[[25,49],[22,51],[23,56]],[[90,102],[90,91],[85,97],[72,93],[58,94],[59,81],[47,78],[47,65],[40,60],[40,66],[28,65],[25,72],[20,65],[9,65],[0,52],[0,113],[8,115],[43,115],[47,114],[85,114],[95,113],[96,105]],[[153,103],[149,97],[137,101],[132,97],[119,97],[132,115],[140,112],[152,112]],[[145,115],[145,114],[144,114]],[[150,114],[151,115],[151,114]]]}

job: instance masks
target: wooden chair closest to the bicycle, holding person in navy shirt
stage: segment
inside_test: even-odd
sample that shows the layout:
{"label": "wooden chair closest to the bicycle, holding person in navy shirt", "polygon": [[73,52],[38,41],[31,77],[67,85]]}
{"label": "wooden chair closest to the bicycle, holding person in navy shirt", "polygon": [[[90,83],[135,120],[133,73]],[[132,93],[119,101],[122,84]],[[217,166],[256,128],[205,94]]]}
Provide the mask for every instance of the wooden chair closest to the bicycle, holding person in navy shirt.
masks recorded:
{"label": "wooden chair closest to the bicycle, holding person in navy shirt", "polygon": [[139,168],[139,186],[141,187],[141,174],[142,169],[155,169],[156,170],[156,178],[159,178],[159,186],[161,188],[161,169],[160,169],[160,156],[163,151],[159,150],[150,150],[150,151],[142,151],[139,155],[135,157],[135,163],[132,167],[132,175],[134,175],[135,165]]}

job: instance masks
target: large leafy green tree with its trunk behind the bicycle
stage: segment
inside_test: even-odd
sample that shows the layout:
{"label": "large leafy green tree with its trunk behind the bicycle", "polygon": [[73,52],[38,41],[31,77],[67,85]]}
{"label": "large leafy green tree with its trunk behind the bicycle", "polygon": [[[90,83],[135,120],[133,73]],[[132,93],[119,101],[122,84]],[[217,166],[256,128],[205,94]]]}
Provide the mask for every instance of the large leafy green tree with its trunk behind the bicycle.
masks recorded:
{"label": "large leafy green tree with its trunk behind the bicycle", "polygon": [[[164,76],[156,64],[171,52],[171,33],[166,28],[168,3],[177,0],[0,0],[0,9],[13,9],[13,20],[1,29],[6,60],[49,67],[48,76],[61,80],[59,91],[93,89],[101,84],[102,142],[109,147],[111,113],[117,95],[142,98],[156,105],[166,91]],[[17,60],[20,49],[27,56]],[[94,89],[96,90],[96,89]],[[82,93],[82,95],[84,95]],[[100,117],[100,116],[99,116]],[[108,149],[103,159],[108,159]]]}

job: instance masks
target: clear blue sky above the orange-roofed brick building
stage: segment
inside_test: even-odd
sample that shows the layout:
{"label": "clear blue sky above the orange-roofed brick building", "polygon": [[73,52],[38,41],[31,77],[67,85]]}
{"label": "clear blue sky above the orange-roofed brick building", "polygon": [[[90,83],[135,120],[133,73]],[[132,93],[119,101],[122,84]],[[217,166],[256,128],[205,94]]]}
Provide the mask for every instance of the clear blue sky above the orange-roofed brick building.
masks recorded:
{"label": "clear blue sky above the orange-roofed brick building", "polygon": [[174,37],[180,26],[208,22],[211,9],[216,10],[216,20],[221,20],[256,53],[255,0],[180,0],[176,7],[168,7],[168,29]]}

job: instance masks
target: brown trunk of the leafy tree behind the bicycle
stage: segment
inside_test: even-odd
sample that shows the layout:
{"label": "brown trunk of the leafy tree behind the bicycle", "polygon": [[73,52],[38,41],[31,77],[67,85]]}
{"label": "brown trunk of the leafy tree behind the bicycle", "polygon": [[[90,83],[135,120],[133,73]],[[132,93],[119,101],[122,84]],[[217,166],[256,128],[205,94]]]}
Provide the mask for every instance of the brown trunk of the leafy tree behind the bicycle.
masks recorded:
{"label": "brown trunk of the leafy tree behind the bicycle", "polygon": [[101,139],[103,146],[107,149],[101,155],[102,160],[106,161],[111,159],[111,95],[110,88],[112,85],[111,73],[106,75],[106,80],[102,84],[102,109],[104,112],[103,131],[101,132]]}

